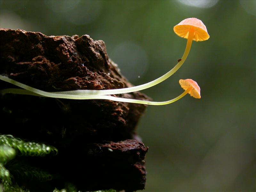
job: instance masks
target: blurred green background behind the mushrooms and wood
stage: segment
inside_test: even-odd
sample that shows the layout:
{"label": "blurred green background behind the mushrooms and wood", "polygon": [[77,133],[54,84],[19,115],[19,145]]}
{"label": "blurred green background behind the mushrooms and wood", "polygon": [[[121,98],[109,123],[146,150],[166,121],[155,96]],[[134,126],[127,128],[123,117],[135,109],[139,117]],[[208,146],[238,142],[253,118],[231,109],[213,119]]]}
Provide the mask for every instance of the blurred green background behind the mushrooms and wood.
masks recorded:
{"label": "blurred green background behind the mushrooms and wood", "polygon": [[135,85],[169,71],[186,39],[181,20],[204,22],[210,39],[193,42],[171,78],[144,90],[155,101],[178,96],[192,78],[201,100],[186,96],[149,106],[138,133],[146,156],[145,191],[255,191],[256,1],[0,1],[1,28],[45,35],[90,35]]}

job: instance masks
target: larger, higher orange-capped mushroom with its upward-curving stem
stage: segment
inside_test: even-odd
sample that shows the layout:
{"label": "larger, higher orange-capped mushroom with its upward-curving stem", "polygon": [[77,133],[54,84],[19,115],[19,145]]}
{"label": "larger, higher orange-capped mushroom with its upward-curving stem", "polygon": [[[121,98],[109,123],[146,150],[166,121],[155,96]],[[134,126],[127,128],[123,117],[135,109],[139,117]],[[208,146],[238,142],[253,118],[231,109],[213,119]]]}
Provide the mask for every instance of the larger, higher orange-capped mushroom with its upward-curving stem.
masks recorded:
{"label": "larger, higher orange-capped mushroom with its upward-curving stem", "polygon": [[207,29],[204,23],[196,18],[188,18],[181,21],[178,25],[175,25],[173,28],[174,32],[183,38],[188,39],[187,46],[185,52],[181,59],[178,60],[178,63],[172,68],[169,72],[164,74],[163,76],[148,82],[146,84],[122,88],[122,89],[109,89],[109,90],[76,90],[76,91],[65,91],[65,92],[53,92],[53,93],[63,93],[63,94],[71,94],[71,95],[112,95],[112,94],[120,94],[120,93],[129,93],[135,91],[141,91],[143,89],[147,89],[156,84],[159,84],[172,76],[185,62],[188,57],[188,53],[191,48],[192,41],[205,41],[209,39],[209,34],[207,33]]}

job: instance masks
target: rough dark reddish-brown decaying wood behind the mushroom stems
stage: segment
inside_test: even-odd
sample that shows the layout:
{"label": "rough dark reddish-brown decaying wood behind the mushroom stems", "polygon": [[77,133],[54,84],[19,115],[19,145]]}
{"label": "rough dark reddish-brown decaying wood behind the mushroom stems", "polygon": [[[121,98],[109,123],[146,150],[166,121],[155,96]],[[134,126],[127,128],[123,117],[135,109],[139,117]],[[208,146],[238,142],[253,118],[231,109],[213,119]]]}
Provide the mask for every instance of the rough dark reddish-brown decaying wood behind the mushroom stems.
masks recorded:
{"label": "rough dark reddish-brown decaying wood behind the mushroom stems", "polygon": [[[40,90],[132,86],[108,58],[104,42],[93,41],[88,35],[45,36],[1,28],[0,50],[1,75]],[[0,89],[12,87],[15,86],[1,81]],[[140,92],[117,96],[149,100]],[[146,181],[144,157],[148,148],[132,140],[139,138],[135,128],[145,108],[110,100],[6,94],[1,96],[1,122],[6,125],[1,133],[58,148],[56,157],[33,160],[56,175],[49,186],[72,182],[82,191],[135,191],[143,189]]]}

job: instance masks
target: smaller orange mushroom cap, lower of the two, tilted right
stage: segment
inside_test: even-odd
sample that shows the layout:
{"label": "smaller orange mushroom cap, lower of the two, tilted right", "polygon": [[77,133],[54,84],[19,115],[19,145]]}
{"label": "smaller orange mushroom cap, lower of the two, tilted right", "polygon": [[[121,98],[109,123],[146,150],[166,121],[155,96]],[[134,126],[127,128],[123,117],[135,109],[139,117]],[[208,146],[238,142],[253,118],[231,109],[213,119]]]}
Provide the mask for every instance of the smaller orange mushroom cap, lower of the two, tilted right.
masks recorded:
{"label": "smaller orange mushroom cap, lower of the two, tilted right", "polygon": [[190,96],[196,98],[196,99],[200,99],[201,95],[200,95],[200,87],[198,86],[198,84],[192,80],[192,79],[180,79],[179,81],[180,86],[186,91],[188,89],[189,86],[192,86],[193,89],[191,91],[189,91],[188,93],[190,94]]}

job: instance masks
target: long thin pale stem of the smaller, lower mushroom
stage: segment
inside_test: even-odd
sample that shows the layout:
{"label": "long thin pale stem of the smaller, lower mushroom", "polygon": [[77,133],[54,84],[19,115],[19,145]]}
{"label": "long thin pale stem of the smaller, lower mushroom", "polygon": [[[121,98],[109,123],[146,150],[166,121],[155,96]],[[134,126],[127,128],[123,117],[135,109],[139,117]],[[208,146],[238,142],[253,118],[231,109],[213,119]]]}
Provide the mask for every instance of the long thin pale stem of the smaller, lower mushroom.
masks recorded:
{"label": "long thin pale stem of the smaller, lower mushroom", "polygon": [[[28,87],[26,87],[26,88],[28,88]],[[193,87],[190,86],[187,90],[185,90],[178,97],[176,97],[172,100],[162,101],[162,102],[127,99],[127,98],[114,97],[114,96],[110,96],[110,95],[66,95],[66,94],[44,92],[44,91],[41,91],[41,90],[35,89],[35,88],[33,88],[33,92],[29,91],[28,89],[15,89],[15,88],[3,89],[0,92],[2,95],[6,94],[6,93],[14,93],[14,94],[22,94],[22,95],[33,95],[33,96],[39,96],[39,97],[60,98],[60,99],[76,99],[76,100],[101,99],[101,100],[112,100],[112,101],[127,102],[127,103],[138,103],[138,104],[145,104],[145,105],[167,105],[167,104],[173,103],[173,102],[181,99],[186,94],[188,94],[188,92],[191,91],[192,89],[193,89]]]}

